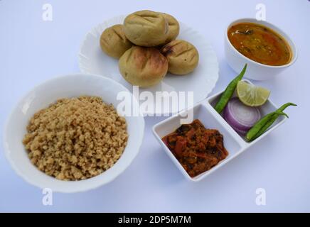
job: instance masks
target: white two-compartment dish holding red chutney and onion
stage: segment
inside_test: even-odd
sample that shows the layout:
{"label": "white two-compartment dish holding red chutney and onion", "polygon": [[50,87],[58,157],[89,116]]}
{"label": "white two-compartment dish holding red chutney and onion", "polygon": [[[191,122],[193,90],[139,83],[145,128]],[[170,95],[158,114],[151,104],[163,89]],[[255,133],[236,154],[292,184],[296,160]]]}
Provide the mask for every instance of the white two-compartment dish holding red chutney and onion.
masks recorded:
{"label": "white two-compartment dish holding red chutney and onion", "polygon": [[[286,121],[286,118],[284,118],[284,116],[280,116],[266,133],[261,135],[256,140],[253,140],[252,142],[248,143],[244,140],[244,138],[241,135],[236,133],[235,130],[232,129],[232,127],[225,121],[225,119],[220,114],[218,114],[218,112],[216,112],[215,109],[213,108],[213,106],[215,106],[216,102],[220,98],[221,94],[222,92],[219,92],[218,94],[210,96],[208,99],[205,99],[204,101],[201,101],[201,103],[193,106],[193,109],[188,109],[187,111],[181,111],[179,114],[166,118],[164,121],[161,121],[157,123],[155,126],[153,126],[153,133],[156,139],[159,141],[161,146],[166,151],[167,155],[171,158],[171,160],[178,167],[178,169],[181,170],[186,179],[189,179],[190,181],[198,182],[201,179],[207,177],[208,175],[210,175],[211,173],[215,172],[220,167],[225,165],[227,162],[230,162],[230,160],[237,157],[237,155],[243,153],[245,150],[247,150],[247,148],[250,148],[252,145],[257,143],[257,141],[262,140],[265,136],[274,131],[274,129],[279,127],[282,123],[284,123],[284,121]],[[268,100],[266,104],[264,104],[263,106],[260,106],[260,112],[262,116],[276,109],[277,106],[275,106],[274,103],[270,100]],[[188,175],[188,173],[186,172],[186,170],[184,170],[180,162],[178,162],[176,157],[174,157],[169,148],[167,148],[167,146],[161,140],[161,138],[163,138],[165,135],[172,133],[173,131],[176,130],[176,128],[181,126],[180,120],[184,116],[183,112],[188,112],[191,110],[193,110],[193,119],[198,118],[206,128],[214,128],[220,131],[220,133],[223,135],[224,138],[225,148],[228,150],[229,153],[228,157],[226,157],[225,160],[222,160],[221,162],[218,163],[218,165],[215,165],[215,167],[213,167],[212,169],[203,172],[201,173],[201,175],[198,175],[196,177],[190,177]]]}

